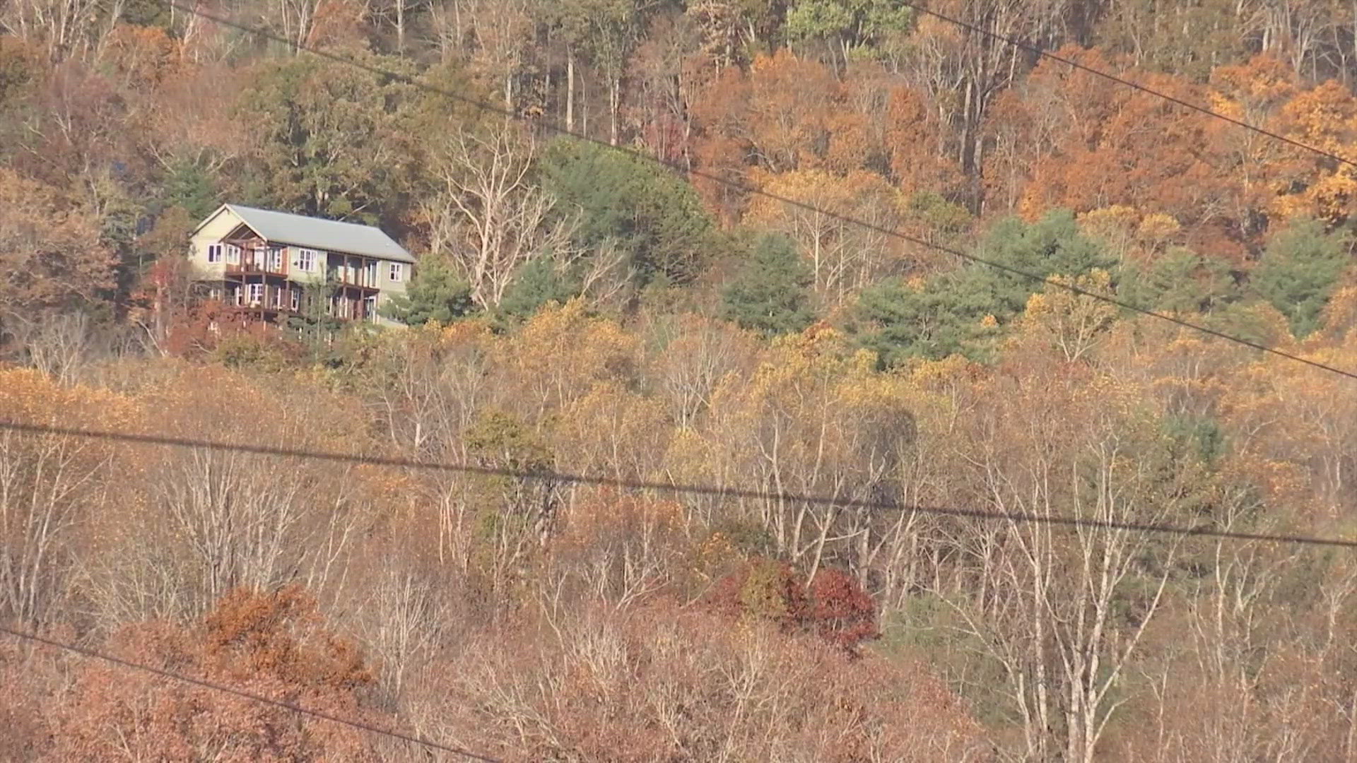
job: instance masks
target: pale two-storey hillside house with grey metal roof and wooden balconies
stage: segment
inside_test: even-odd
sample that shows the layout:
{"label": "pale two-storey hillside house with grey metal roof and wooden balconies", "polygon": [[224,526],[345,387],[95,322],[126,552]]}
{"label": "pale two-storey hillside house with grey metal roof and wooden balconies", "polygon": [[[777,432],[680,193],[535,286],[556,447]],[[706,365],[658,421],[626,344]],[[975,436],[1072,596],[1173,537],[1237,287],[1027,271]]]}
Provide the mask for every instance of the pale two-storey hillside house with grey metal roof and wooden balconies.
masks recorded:
{"label": "pale two-storey hillside house with grey metal roof and wooden balconies", "polygon": [[323,311],[392,323],[379,310],[403,295],[415,258],[372,225],[223,204],[189,240],[204,296],[243,323]]}

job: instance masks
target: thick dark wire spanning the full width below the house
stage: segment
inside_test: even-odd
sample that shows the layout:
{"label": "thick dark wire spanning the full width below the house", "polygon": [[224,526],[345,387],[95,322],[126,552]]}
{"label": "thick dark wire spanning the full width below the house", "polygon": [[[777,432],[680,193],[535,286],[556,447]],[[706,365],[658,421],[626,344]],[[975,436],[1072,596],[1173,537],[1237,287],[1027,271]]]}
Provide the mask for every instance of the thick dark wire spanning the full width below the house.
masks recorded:
{"label": "thick dark wire spanning the full width below the house", "polygon": [[168,445],[178,448],[205,448],[212,451],[228,451],[228,452],[254,453],[254,455],[278,456],[278,458],[299,458],[299,459],[323,460],[334,463],[353,463],[365,466],[445,471],[457,474],[475,474],[483,477],[514,477],[521,479],[537,479],[543,482],[593,485],[603,487],[622,487],[628,490],[653,490],[657,493],[670,493],[678,496],[708,496],[726,500],[731,498],[745,498],[745,500],[759,500],[759,501],[771,500],[771,501],[784,501],[791,504],[806,504],[813,506],[830,506],[840,509],[860,509],[860,510],[908,512],[917,515],[974,519],[985,521],[1012,521],[1022,524],[1045,524],[1054,527],[1076,527],[1076,528],[1096,528],[1096,529],[1125,529],[1133,532],[1153,532],[1160,535],[1175,535],[1183,538],[1201,536],[1201,538],[1221,538],[1229,540],[1259,540],[1267,543],[1293,543],[1304,546],[1331,546],[1339,548],[1357,548],[1357,540],[1343,540],[1341,538],[1318,538],[1308,535],[1288,535],[1288,534],[1270,534],[1270,532],[1239,532],[1231,529],[1215,529],[1210,527],[1183,527],[1175,524],[1149,523],[1149,521],[1099,520],[1099,519],[1075,517],[1064,515],[1039,515],[1033,512],[997,512],[988,509],[963,509],[951,506],[921,506],[915,504],[901,504],[898,501],[864,501],[856,498],[836,498],[832,496],[802,496],[798,493],[786,493],[786,491],[749,490],[744,487],[683,485],[674,482],[654,482],[645,479],[617,479],[612,477],[571,474],[554,470],[520,470],[520,468],[486,467],[475,464],[429,462],[419,459],[360,456],[350,453],[305,451],[300,448],[275,448],[270,445],[216,443],[212,440],[168,437],[163,434],[134,434],[128,432],[77,429],[71,426],[47,426],[41,424],[22,424],[14,421],[0,421],[0,429],[8,429],[12,432],[26,432],[33,434],[64,434],[71,437],[87,437],[94,440],[109,440],[115,443],[138,443],[149,445]]}

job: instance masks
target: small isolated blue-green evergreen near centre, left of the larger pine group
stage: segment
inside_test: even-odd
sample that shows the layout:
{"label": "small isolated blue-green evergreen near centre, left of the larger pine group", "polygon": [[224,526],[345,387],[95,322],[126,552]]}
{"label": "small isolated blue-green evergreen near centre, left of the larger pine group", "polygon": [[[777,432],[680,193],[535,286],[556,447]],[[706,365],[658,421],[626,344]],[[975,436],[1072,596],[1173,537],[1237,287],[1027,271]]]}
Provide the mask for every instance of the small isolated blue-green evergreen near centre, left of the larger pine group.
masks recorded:
{"label": "small isolated blue-green evergreen near centre, left of the larger pine group", "polygon": [[813,280],[791,239],[765,234],[726,286],[726,319],[765,337],[801,331],[816,319]]}

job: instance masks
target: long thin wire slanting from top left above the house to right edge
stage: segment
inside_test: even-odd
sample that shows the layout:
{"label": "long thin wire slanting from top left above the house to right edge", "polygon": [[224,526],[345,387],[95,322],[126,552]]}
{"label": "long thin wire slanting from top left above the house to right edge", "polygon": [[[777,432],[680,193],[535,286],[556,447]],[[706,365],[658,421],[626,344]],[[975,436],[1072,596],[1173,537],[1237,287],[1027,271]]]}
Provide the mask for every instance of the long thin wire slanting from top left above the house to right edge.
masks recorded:
{"label": "long thin wire slanting from top left above the house to right edge", "polygon": [[[616,152],[620,152],[620,153],[626,153],[628,156],[632,156],[632,157],[636,157],[636,159],[641,159],[641,160],[645,160],[645,162],[653,162],[655,164],[661,164],[661,166],[669,167],[670,170],[674,170],[674,171],[681,172],[681,174],[685,172],[685,174],[688,174],[691,176],[704,178],[704,179],[712,181],[715,183],[721,183],[721,185],[723,185],[726,187],[738,190],[741,193],[753,194],[753,196],[761,196],[764,198],[771,198],[773,201],[780,201],[783,204],[788,204],[788,205],[795,206],[798,209],[805,209],[806,212],[813,212],[816,215],[822,215],[822,216],[829,217],[832,220],[839,220],[840,223],[844,223],[844,224],[848,224],[848,225],[856,225],[856,227],[860,227],[860,228],[864,228],[864,229],[868,229],[868,231],[873,231],[873,232],[877,232],[877,234],[882,234],[885,236],[890,236],[890,238],[900,239],[900,240],[904,240],[904,242],[909,242],[909,243],[913,243],[913,244],[917,244],[917,246],[921,246],[921,247],[925,247],[925,248],[931,248],[931,250],[935,250],[935,251],[950,254],[950,255],[957,257],[959,259],[963,259],[966,262],[973,262],[976,265],[984,265],[987,267],[993,267],[996,270],[1003,270],[1004,273],[1008,273],[1011,276],[1018,276],[1020,278],[1026,278],[1026,280],[1030,280],[1030,281],[1034,281],[1034,282],[1038,282],[1038,284],[1045,284],[1048,286],[1054,286],[1054,288],[1058,288],[1058,289],[1064,289],[1067,292],[1072,292],[1072,293],[1079,295],[1079,296],[1084,296],[1084,297],[1095,299],[1098,301],[1103,301],[1103,303],[1107,303],[1107,304],[1117,305],[1117,307],[1120,307],[1122,310],[1129,310],[1132,312],[1147,315],[1149,318],[1158,318],[1160,320],[1167,320],[1168,323],[1172,323],[1175,326],[1181,326],[1183,329],[1189,329],[1189,330],[1193,330],[1193,331],[1208,334],[1210,337],[1217,337],[1220,339],[1225,339],[1225,341],[1234,342],[1236,345],[1243,345],[1243,346],[1250,348],[1250,349],[1261,350],[1261,352],[1265,352],[1265,353],[1269,353],[1269,354],[1273,354],[1273,356],[1277,356],[1277,357],[1282,357],[1282,358],[1286,358],[1286,360],[1292,360],[1292,361],[1296,361],[1296,362],[1303,362],[1305,365],[1310,365],[1310,367],[1314,367],[1314,368],[1319,368],[1319,369],[1327,371],[1330,373],[1338,373],[1339,376],[1346,376],[1349,379],[1357,380],[1357,372],[1345,371],[1342,368],[1337,368],[1337,367],[1333,367],[1333,365],[1329,365],[1329,364],[1324,364],[1324,362],[1310,360],[1307,357],[1301,357],[1301,356],[1297,356],[1297,354],[1293,354],[1293,353],[1288,353],[1288,352],[1280,350],[1277,348],[1270,348],[1267,345],[1263,345],[1263,343],[1259,343],[1259,342],[1254,342],[1251,339],[1244,339],[1243,337],[1235,337],[1235,335],[1227,334],[1224,331],[1217,331],[1215,329],[1202,326],[1200,323],[1193,323],[1190,320],[1183,320],[1181,318],[1177,318],[1174,315],[1168,315],[1166,312],[1158,312],[1158,311],[1153,311],[1153,310],[1139,307],[1139,305],[1130,304],[1128,301],[1122,301],[1122,300],[1120,300],[1117,297],[1110,297],[1107,295],[1099,295],[1099,293],[1095,293],[1095,292],[1090,292],[1090,291],[1082,289],[1082,288],[1079,288],[1079,286],[1076,286],[1073,284],[1065,284],[1065,282],[1057,281],[1056,278],[1050,278],[1050,277],[1046,277],[1046,276],[1039,276],[1037,273],[1030,273],[1027,270],[1022,270],[1019,267],[1012,267],[1010,265],[1003,265],[1000,262],[995,262],[992,259],[985,259],[985,258],[977,257],[974,254],[968,254],[968,253],[963,253],[963,251],[953,248],[953,247],[938,244],[938,243],[930,242],[927,239],[921,239],[919,236],[913,236],[913,235],[897,231],[894,228],[887,228],[887,227],[883,227],[883,225],[878,225],[875,223],[868,223],[866,220],[858,220],[858,219],[849,217],[847,215],[840,215],[837,212],[832,212],[832,210],[828,210],[828,209],[821,209],[821,208],[818,208],[818,206],[816,206],[813,204],[807,204],[805,201],[798,201],[798,200],[794,200],[794,198],[779,196],[779,194],[775,194],[775,193],[771,193],[771,191],[767,191],[767,190],[763,190],[763,189],[756,189],[753,186],[748,186],[745,183],[741,183],[741,182],[737,182],[737,181],[731,181],[729,178],[723,178],[723,176],[721,176],[718,174],[714,174],[714,172],[707,172],[707,171],[703,171],[703,170],[687,168],[683,164],[680,164],[678,162],[670,162],[670,160],[660,159],[660,157],[651,156],[651,155],[649,155],[646,152],[636,151],[634,148],[612,145],[612,144],[609,144],[609,143],[607,143],[604,140],[593,138],[593,137],[589,137],[589,136],[582,134],[582,133],[575,133],[575,132],[567,130],[567,129],[565,129],[562,126],[558,126],[558,125],[551,125],[551,124],[547,124],[547,122],[539,122],[536,119],[529,119],[529,118],[522,117],[521,114],[517,114],[517,113],[514,113],[514,111],[512,111],[509,109],[503,109],[502,106],[495,106],[494,103],[489,103],[489,102],[484,102],[484,100],[479,100],[476,98],[471,98],[471,96],[461,95],[461,94],[457,94],[457,92],[453,92],[453,91],[449,91],[449,90],[445,90],[445,88],[440,88],[440,87],[432,86],[429,83],[419,81],[415,77],[411,77],[408,75],[403,75],[400,72],[392,72],[392,71],[388,71],[388,69],[383,69],[381,67],[375,67],[372,64],[365,64],[362,61],[357,61],[357,60],[349,58],[346,56],[339,56],[337,53],[330,53],[327,50],[320,50],[320,49],[316,49],[316,48],[312,48],[312,46],[307,46],[307,45],[299,43],[296,41],[286,39],[286,38],[280,37],[277,34],[269,33],[266,30],[262,30],[262,29],[258,29],[258,27],[251,27],[248,24],[243,24],[243,23],[239,23],[239,22],[233,22],[231,19],[227,19],[227,18],[223,18],[223,16],[217,16],[217,15],[209,14],[206,11],[201,11],[198,8],[191,8],[191,7],[187,7],[187,5],[180,5],[180,4],[174,3],[174,1],[167,1],[166,5],[168,5],[171,8],[176,8],[179,11],[186,12],[186,14],[201,16],[204,19],[208,19],[210,22],[216,22],[216,23],[223,24],[225,27],[231,27],[231,29],[235,29],[235,30],[239,30],[239,31],[244,31],[247,34],[258,35],[262,39],[267,39],[267,41],[273,41],[273,42],[280,42],[282,45],[286,45],[286,46],[293,48],[293,49],[300,50],[300,52],[307,52],[307,53],[311,53],[313,56],[319,56],[322,58],[327,58],[330,61],[337,61],[339,64],[346,64],[346,65],[350,65],[350,67],[356,67],[358,69],[362,69],[362,71],[370,72],[373,75],[377,75],[379,77],[385,77],[385,79],[389,79],[389,80],[406,83],[406,84],[410,84],[410,86],[417,87],[419,90],[425,90],[425,91],[429,91],[429,92],[434,92],[434,94],[442,95],[445,98],[451,98],[453,100],[457,100],[460,103],[465,103],[465,105],[472,106],[475,109],[479,109],[482,111],[489,111],[489,113],[493,113],[493,114],[499,114],[502,117],[506,117],[506,118],[510,118],[510,119],[517,119],[517,121],[521,121],[521,122],[528,122],[528,124],[536,125],[536,126],[539,126],[541,129],[546,129],[546,130],[550,130],[550,132],[555,132],[558,134],[570,136],[570,137],[574,137],[575,140],[582,140],[582,141],[586,141],[586,143],[592,143],[594,145],[598,145],[598,147],[603,147],[603,148],[608,148],[611,151],[616,151]],[[1077,65],[1077,64],[1073,64],[1073,62],[1069,62],[1069,64],[1071,65]],[[1126,83],[1126,84],[1133,84],[1133,83]],[[1145,90],[1145,88],[1141,88],[1141,90]],[[1148,92],[1153,92],[1153,91],[1148,91]],[[1164,98],[1168,98],[1168,96],[1166,95]],[[1197,109],[1201,110],[1200,107],[1197,107]],[[1228,118],[1228,117],[1223,117],[1223,118]],[[1255,129],[1258,129],[1258,128],[1255,128]],[[1285,138],[1282,138],[1282,140],[1285,140]]]}

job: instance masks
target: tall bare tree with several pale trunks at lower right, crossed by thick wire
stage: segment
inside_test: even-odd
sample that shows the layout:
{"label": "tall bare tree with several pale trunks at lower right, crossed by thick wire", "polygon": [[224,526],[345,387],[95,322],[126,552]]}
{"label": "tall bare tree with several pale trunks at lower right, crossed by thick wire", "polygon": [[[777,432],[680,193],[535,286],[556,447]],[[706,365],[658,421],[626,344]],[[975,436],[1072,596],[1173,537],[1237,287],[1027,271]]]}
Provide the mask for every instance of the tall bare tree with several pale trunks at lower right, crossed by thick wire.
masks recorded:
{"label": "tall bare tree with several pale trunks at lower right, crossed by thick wire", "polygon": [[[1048,390],[1046,392],[1049,392]],[[982,415],[977,468],[995,509],[1095,523],[1162,521],[1182,491],[1110,413],[1075,414],[1075,430],[1029,390],[1030,410]],[[958,534],[966,563],[935,588],[961,630],[1007,676],[1029,759],[1090,762],[1121,705],[1121,684],[1159,612],[1178,548],[1106,525],[977,525]]]}

